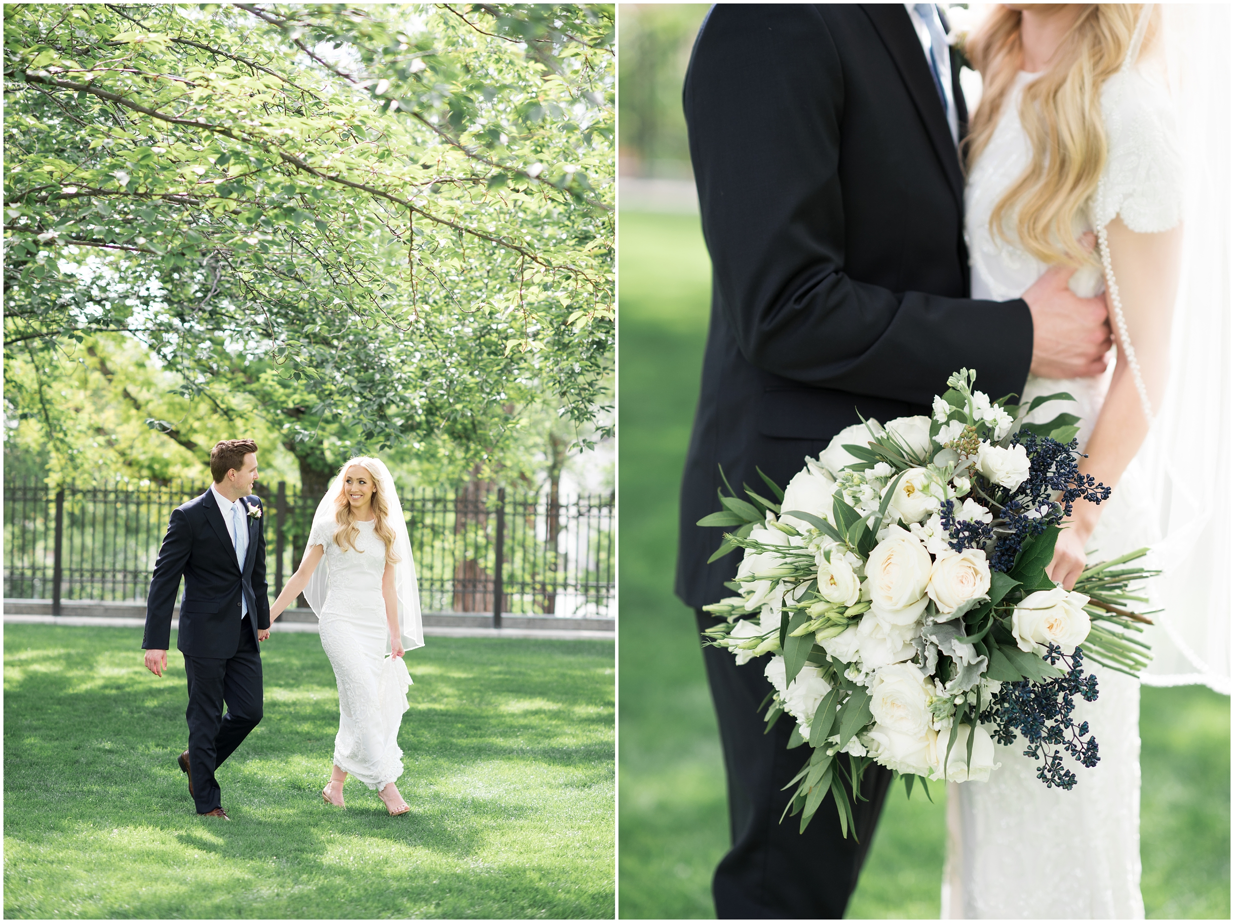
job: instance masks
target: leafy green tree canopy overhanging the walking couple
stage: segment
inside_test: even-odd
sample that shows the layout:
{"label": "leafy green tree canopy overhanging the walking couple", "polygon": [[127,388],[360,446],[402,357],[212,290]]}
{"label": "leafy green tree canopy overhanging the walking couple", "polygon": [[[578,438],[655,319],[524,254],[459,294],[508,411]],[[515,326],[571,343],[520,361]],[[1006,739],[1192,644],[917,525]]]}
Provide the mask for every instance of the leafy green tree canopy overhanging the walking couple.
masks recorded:
{"label": "leafy green tree canopy overhanging the walking couple", "polygon": [[482,464],[536,402],[603,412],[611,7],[4,12],[6,359],[135,337],[308,491],[332,441]]}

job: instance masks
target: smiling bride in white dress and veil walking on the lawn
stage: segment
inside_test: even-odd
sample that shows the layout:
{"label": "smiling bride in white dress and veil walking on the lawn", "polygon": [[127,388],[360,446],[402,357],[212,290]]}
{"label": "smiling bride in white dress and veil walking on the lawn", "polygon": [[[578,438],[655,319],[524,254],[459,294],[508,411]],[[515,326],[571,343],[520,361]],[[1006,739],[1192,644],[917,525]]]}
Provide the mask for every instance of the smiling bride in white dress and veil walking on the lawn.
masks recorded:
{"label": "smiling bride in white dress and veil walking on the lawn", "polygon": [[391,814],[405,814],[411,808],[395,785],[411,686],[402,656],[424,640],[407,523],[380,460],[353,458],[339,470],[317,506],[300,568],[270,607],[271,623],[301,592],[338,681],[334,765],[322,798],[343,807],[350,774],[376,788]]}

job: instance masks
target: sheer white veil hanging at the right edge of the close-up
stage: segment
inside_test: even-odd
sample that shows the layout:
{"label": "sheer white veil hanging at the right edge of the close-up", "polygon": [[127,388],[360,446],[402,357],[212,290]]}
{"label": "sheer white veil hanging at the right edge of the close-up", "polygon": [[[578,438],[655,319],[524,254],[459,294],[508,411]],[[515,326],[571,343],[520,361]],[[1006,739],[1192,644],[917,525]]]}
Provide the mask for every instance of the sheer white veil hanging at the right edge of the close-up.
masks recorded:
{"label": "sheer white veil hanging at the right edge of the close-up", "polygon": [[1138,460],[1160,532],[1149,566],[1150,686],[1229,695],[1230,9],[1162,4],[1162,51],[1185,158],[1183,250],[1170,378]]}

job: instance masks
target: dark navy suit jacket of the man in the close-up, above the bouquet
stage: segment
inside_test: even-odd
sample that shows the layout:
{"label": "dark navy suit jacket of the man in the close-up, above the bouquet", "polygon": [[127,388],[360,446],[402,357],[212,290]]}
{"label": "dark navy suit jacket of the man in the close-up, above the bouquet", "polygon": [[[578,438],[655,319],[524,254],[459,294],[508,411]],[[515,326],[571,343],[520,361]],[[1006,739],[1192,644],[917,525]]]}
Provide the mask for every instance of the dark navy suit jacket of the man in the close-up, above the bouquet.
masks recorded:
{"label": "dark navy suit jacket of the man in the close-up, above the bouquet", "polygon": [[[967,114],[953,53],[961,132]],[[900,4],[717,4],[684,93],[712,260],[702,389],[681,487],[677,595],[732,595],[719,466],[766,496],[859,422],[928,413],[961,366],[1021,392],[1022,300],[969,297],[964,174]]]}

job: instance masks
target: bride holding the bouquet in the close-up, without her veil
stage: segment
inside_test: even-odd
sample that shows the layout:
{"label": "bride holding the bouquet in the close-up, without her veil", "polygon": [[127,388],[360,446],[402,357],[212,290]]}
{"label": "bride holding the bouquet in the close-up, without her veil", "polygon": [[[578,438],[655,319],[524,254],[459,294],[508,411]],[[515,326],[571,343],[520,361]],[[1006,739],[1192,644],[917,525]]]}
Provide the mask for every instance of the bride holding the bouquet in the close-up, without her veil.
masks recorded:
{"label": "bride holding the bouquet in the close-up, without her veil", "polygon": [[[969,38],[985,91],[967,144],[966,234],[972,296],[1019,297],[1045,271],[1072,271],[1107,292],[1118,355],[1106,375],[1030,375],[1023,400],[1080,417],[1080,470],[1116,487],[1077,503],[1050,576],[1070,589],[1086,555],[1109,559],[1149,544],[1149,491],[1134,457],[1165,390],[1177,284],[1182,160],[1170,104],[1145,67],[1154,12],[1138,5],[1003,6]],[[1146,41],[1145,41],[1146,37]],[[1095,234],[1099,232],[1099,234]],[[1101,246],[1090,250],[1099,236]],[[1099,254],[1099,255],[1098,255]],[[1051,269],[1051,267],[1055,267]],[[1127,344],[1132,343],[1130,352]],[[1135,364],[1138,360],[1138,370]],[[944,918],[1143,918],[1140,897],[1139,681],[1095,664],[1099,697],[1081,702],[1101,763],[1071,791],[1046,788],[1023,744],[996,747],[1002,768],[983,785],[951,785]]]}

